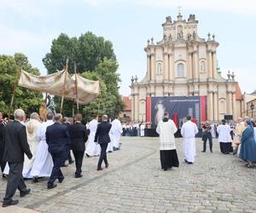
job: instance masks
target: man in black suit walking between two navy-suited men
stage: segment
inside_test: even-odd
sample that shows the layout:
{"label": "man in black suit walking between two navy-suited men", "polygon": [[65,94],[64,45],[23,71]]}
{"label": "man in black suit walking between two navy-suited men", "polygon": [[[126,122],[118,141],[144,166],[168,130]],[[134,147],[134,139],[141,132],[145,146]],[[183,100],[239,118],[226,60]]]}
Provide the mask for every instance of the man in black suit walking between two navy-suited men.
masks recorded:
{"label": "man in black suit walking between two navy-suited men", "polygon": [[85,142],[88,140],[88,132],[84,124],[81,124],[82,115],[77,114],[75,117],[75,124],[70,127],[71,137],[71,149],[73,150],[73,156],[76,163],[75,177],[82,177],[81,167],[83,164]]}

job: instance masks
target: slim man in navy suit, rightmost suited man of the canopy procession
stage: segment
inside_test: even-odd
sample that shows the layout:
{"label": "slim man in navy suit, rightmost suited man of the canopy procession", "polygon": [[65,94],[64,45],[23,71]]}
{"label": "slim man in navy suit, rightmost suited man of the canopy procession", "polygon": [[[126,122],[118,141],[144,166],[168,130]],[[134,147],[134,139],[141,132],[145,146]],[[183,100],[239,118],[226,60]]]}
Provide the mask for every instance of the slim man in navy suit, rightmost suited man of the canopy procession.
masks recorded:
{"label": "slim man in navy suit, rightmost suited man of the canopy procession", "polygon": [[111,124],[109,124],[108,122],[108,115],[102,115],[102,123],[98,124],[95,139],[94,139],[94,141],[98,142],[102,148],[99,162],[97,165],[97,170],[102,170],[103,160],[106,165],[106,168],[108,168],[108,159],[107,159],[106,150],[108,148],[108,143],[110,142],[110,137],[108,135],[110,129],[111,129]]}

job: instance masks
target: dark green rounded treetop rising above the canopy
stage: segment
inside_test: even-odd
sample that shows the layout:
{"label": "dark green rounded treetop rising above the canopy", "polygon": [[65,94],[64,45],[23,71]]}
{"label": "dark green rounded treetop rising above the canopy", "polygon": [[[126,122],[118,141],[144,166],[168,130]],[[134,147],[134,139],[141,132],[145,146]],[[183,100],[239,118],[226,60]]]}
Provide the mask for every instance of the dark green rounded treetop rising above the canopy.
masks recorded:
{"label": "dark green rounded treetop rising above the canopy", "polygon": [[61,33],[53,40],[50,53],[45,55],[43,62],[48,72],[53,73],[62,70],[68,58],[69,72],[73,72],[76,62],[77,71],[82,73],[95,70],[104,57],[115,60],[113,44],[103,37],[96,37],[92,32],[86,32],[79,38]]}

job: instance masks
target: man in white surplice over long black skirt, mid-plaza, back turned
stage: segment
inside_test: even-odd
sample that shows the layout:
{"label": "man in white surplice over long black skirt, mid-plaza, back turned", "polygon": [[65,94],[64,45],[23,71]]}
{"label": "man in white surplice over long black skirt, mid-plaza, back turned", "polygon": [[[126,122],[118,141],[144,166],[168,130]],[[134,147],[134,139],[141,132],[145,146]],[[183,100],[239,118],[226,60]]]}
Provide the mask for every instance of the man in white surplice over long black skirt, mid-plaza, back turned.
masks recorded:
{"label": "man in white surplice over long black skirt, mid-plaza, back turned", "polygon": [[178,167],[179,162],[175,147],[174,134],[177,127],[174,122],[169,119],[168,112],[164,113],[164,118],[157,125],[156,132],[160,135],[160,162],[161,169],[172,169],[172,166]]}

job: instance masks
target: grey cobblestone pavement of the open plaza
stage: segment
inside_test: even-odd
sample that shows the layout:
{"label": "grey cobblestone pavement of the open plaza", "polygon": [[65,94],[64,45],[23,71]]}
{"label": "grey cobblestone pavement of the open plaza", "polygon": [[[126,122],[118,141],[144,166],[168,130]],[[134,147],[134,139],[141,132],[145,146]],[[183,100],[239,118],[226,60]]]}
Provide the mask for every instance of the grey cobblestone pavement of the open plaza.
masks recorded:
{"label": "grey cobblestone pavement of the open plaza", "polygon": [[[55,189],[47,190],[47,179],[29,180],[32,193],[23,199],[16,193],[14,199],[42,212],[256,212],[256,170],[221,154],[217,141],[213,153],[201,153],[198,139],[195,164],[189,165],[177,139],[180,167],[163,171],[158,140],[122,137],[121,150],[108,153],[108,169],[96,171],[98,158],[84,158],[82,178],[74,178],[72,164],[62,169],[66,179]],[[0,180],[2,200],[5,187]]]}

